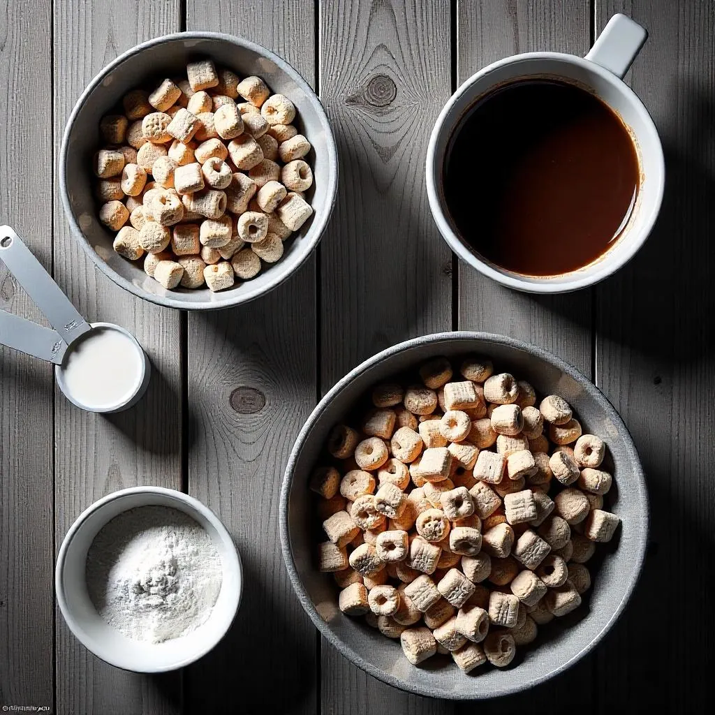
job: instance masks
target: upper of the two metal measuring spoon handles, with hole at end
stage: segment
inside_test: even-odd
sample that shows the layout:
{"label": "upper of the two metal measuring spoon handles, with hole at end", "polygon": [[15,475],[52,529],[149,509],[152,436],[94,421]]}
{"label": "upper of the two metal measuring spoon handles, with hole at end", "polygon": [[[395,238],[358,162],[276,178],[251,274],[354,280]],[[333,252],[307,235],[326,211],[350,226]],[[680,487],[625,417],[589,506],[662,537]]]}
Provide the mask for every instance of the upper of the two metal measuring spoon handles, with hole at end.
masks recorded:
{"label": "upper of the two metal measuring spoon handles, with hole at end", "polygon": [[0,260],[67,345],[91,330],[89,323],[79,315],[51,275],[9,226],[0,226]]}

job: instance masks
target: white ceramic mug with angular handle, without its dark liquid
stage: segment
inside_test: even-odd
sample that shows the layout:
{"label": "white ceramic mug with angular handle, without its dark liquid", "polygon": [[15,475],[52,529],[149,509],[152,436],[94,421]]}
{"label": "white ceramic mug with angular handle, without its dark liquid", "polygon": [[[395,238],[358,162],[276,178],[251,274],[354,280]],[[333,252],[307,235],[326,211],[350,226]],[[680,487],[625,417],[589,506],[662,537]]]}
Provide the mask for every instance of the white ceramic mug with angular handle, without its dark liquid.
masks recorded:
{"label": "white ceramic mug with angular handle, without its dark liquid", "polygon": [[[490,64],[470,77],[446,104],[435,123],[427,150],[427,192],[435,222],[450,248],[466,263],[503,285],[533,293],[562,293],[603,280],[631,260],[656,222],[665,186],[663,148],[643,102],[623,82],[648,34],[624,15],[614,15],[585,58],[559,52],[518,54]],[[443,189],[448,144],[475,102],[505,82],[553,77],[590,89],[616,112],[628,128],[638,155],[641,182],[636,206],[618,240],[597,260],[561,275],[531,277],[485,260],[455,229]],[[477,149],[478,158],[478,149]],[[478,197],[475,197],[475,204]],[[488,210],[488,207],[485,207]]]}

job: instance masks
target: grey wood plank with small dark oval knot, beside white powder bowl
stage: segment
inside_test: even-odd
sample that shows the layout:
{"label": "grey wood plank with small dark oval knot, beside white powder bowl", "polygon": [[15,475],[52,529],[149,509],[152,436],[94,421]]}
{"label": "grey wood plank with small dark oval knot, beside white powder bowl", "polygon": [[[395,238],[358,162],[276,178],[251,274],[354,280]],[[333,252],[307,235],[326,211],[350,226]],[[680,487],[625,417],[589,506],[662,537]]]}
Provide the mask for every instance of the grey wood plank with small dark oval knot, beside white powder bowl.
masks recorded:
{"label": "grey wood plank with small dark oval knot, beside white powder bowl", "polygon": [[[310,0],[189,0],[187,29],[244,36],[315,82]],[[245,588],[227,638],[187,671],[187,712],[317,709],[315,628],[293,595],[278,536],[283,471],[315,405],[315,339],[312,258],[261,300],[189,315],[189,492],[233,534]]]}

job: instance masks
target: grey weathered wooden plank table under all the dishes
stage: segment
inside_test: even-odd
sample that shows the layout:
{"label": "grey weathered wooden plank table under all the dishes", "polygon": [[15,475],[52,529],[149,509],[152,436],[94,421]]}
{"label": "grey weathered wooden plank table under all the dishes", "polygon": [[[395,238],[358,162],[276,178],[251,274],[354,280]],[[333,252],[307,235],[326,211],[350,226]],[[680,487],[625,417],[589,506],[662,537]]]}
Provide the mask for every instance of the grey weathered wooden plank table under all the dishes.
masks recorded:
{"label": "grey weathered wooden plank table under all the dishes", "polygon": [[[438,235],[424,182],[440,108],[474,71],[529,50],[584,54],[614,12],[650,39],[626,78],[661,132],[659,223],[616,277],[575,295],[502,289]],[[340,152],[315,257],[264,300],[182,315],[92,270],[56,188],[64,122],[124,49],[181,29],[247,37],[320,94]],[[139,408],[109,418],[51,370],[0,350],[0,706],[71,715],[705,711],[715,578],[715,6],[711,0],[0,0],[0,222],[16,227],[90,320],[124,325],[155,366]],[[478,157],[477,157],[478,158]],[[37,319],[0,268],[0,308]],[[652,532],[625,616],[563,676],[452,704],[391,689],[317,636],[277,536],[287,455],[320,395],[408,337],[489,330],[543,345],[593,380],[644,461]],[[66,529],[112,490],[188,490],[232,531],[246,590],[230,635],[183,672],[145,677],[89,654],[56,609]],[[262,508],[252,500],[259,498]]]}

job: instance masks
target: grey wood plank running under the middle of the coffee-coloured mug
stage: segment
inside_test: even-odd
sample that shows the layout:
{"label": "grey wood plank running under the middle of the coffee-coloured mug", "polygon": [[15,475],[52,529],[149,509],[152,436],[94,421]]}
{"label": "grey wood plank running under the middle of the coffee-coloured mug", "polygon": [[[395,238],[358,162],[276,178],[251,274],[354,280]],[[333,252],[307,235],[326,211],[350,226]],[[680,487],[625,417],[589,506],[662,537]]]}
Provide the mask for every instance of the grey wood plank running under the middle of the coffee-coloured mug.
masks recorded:
{"label": "grey wood plank running under the middle of the coffee-coloured mug", "polygon": [[[458,2],[458,84],[481,67],[519,52],[588,51],[588,4],[558,0]],[[591,292],[536,297],[508,290],[468,265],[458,267],[459,327],[487,330],[533,342],[591,375]],[[566,713],[573,691],[592,691],[593,659],[584,659],[543,686],[484,705],[485,712],[523,710]],[[460,712],[470,708],[460,706]]]}

